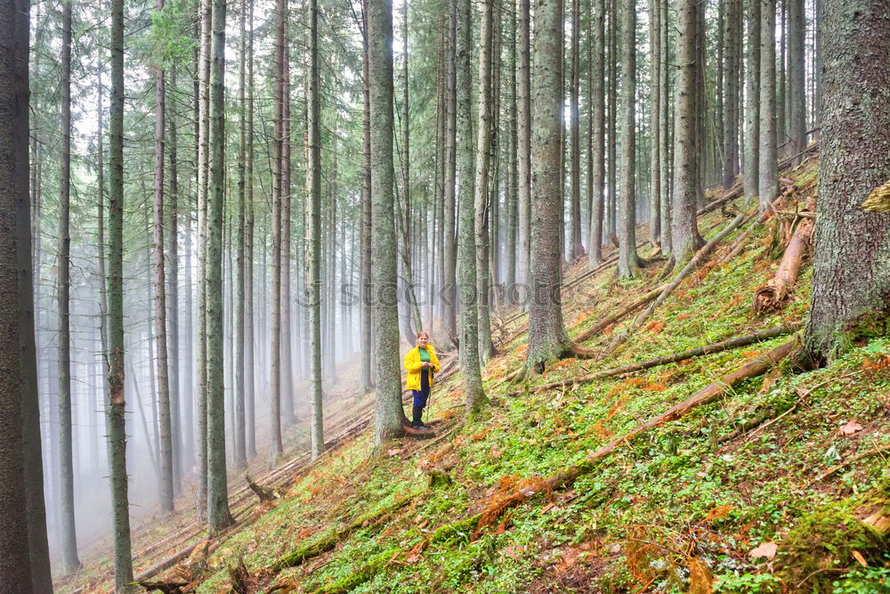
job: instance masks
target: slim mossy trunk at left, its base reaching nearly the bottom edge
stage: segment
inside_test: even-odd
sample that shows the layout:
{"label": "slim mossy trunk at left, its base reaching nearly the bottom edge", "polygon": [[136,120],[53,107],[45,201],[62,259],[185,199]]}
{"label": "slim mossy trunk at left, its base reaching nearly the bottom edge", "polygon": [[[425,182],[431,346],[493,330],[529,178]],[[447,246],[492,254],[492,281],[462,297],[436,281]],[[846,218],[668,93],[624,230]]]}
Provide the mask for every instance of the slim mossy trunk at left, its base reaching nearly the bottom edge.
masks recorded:
{"label": "slim mossy trunk at left, its base reaching nearly the bottom edge", "polygon": [[109,140],[109,404],[108,443],[114,524],[114,581],[132,591],[124,400],[124,0],[111,2]]}

